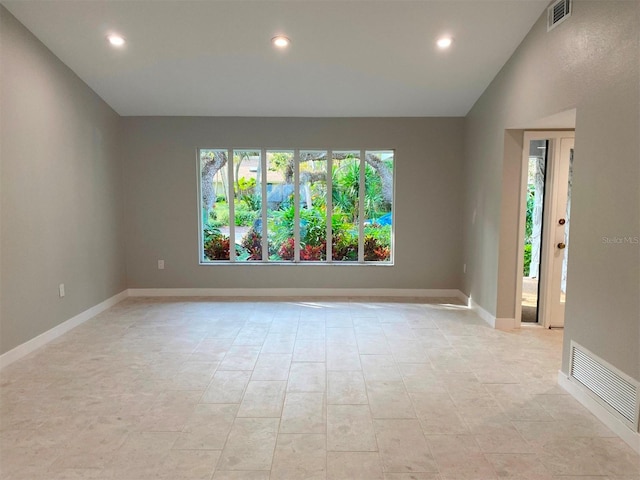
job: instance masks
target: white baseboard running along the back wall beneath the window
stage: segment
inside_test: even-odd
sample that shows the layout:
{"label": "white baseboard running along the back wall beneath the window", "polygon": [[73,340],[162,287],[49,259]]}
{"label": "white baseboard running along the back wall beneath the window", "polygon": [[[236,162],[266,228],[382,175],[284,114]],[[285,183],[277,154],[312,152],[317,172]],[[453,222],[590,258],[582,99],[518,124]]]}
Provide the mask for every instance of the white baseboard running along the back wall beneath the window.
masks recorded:
{"label": "white baseboard running along the back wall beneath the window", "polygon": [[447,297],[465,301],[457,289],[404,288],[130,288],[131,297]]}

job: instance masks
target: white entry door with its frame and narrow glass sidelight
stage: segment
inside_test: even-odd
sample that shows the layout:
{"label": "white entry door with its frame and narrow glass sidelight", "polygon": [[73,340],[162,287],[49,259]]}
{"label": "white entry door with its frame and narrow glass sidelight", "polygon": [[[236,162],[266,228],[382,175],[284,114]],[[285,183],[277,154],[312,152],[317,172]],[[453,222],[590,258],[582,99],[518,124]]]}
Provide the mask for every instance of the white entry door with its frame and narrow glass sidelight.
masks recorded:
{"label": "white entry door with its frame and narrow glass sidelight", "polygon": [[564,326],[573,145],[573,131],[524,136],[516,318],[547,328]]}

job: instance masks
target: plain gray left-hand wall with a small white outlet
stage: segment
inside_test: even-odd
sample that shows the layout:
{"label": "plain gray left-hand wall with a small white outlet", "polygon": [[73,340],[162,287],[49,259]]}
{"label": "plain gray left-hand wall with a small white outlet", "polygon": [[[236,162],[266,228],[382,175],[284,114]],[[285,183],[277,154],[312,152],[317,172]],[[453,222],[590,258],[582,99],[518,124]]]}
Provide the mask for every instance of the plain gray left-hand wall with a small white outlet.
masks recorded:
{"label": "plain gray left-hand wall with a small white outlet", "polygon": [[2,6],[0,49],[4,353],[126,275],[118,115]]}

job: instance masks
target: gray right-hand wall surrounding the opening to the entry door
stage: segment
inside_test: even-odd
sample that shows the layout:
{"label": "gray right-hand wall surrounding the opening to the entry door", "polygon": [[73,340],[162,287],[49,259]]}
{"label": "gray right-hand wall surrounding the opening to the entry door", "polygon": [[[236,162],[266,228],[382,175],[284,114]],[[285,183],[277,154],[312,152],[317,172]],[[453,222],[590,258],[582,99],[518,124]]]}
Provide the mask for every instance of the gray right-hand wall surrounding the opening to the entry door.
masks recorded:
{"label": "gray right-hand wall surrounding the opening to the entry door", "polygon": [[[547,33],[544,15],[465,122],[464,291],[513,317],[521,131],[576,108],[565,355],[575,340],[640,379],[639,5],[575,1]],[[476,210],[476,220],[473,212]]]}

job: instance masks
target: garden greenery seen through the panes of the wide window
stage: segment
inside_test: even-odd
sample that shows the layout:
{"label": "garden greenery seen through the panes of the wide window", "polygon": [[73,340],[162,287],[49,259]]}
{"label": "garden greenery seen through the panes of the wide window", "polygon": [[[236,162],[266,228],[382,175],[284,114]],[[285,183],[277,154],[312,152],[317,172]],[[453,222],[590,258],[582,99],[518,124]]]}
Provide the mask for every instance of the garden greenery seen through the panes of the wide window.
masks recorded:
{"label": "garden greenery seen through the panes of the wide window", "polygon": [[[250,156],[246,155],[249,159]],[[327,259],[327,162],[321,154],[311,152],[299,164],[300,175],[300,260]],[[240,163],[234,152],[234,166],[239,175]],[[295,196],[292,188],[295,168],[288,152],[269,152],[267,170],[280,183],[270,181],[267,186],[267,256],[270,261],[292,261],[295,253],[294,227],[296,221]],[[313,155],[316,155],[313,157]],[[326,155],[326,154],[325,154]],[[369,154],[368,154],[369,155]],[[218,155],[217,157],[220,157]],[[209,154],[208,161],[216,155]],[[375,162],[374,162],[375,161]],[[376,163],[377,162],[377,163]],[[219,162],[221,163],[221,162]],[[364,163],[363,207],[365,218],[359,218],[360,159],[353,154],[334,157],[332,179],[332,260],[358,260],[360,222],[364,222],[363,246],[365,261],[391,259],[391,202],[385,196],[383,174],[392,178],[393,160],[374,158]],[[203,167],[202,167],[203,168]],[[382,169],[386,169],[385,172]],[[223,169],[224,170],[224,169]],[[255,171],[255,170],[254,170]],[[219,174],[221,176],[222,174]],[[256,174],[258,181],[260,177]],[[262,260],[262,189],[256,178],[236,177],[234,182],[234,219],[229,218],[228,196],[218,195],[206,211],[203,231],[204,255],[208,260],[228,260],[230,240],[226,233],[231,224],[236,227],[236,261]],[[270,177],[271,178],[271,177]],[[213,181],[213,180],[212,180]],[[224,183],[220,178],[219,184]],[[392,184],[388,182],[387,184]],[[288,188],[285,188],[289,185]],[[214,185],[216,190],[216,185]],[[222,190],[218,188],[218,190]],[[271,194],[274,192],[273,194]],[[277,200],[274,200],[277,198]],[[388,217],[383,224],[381,217]]]}

